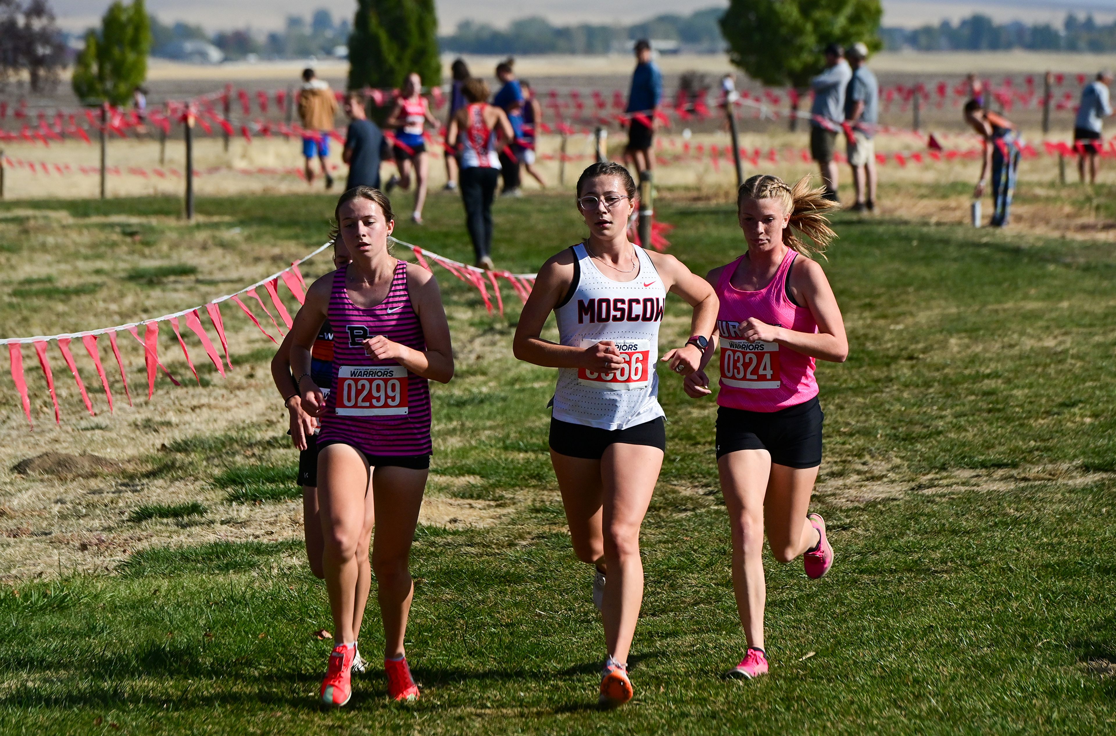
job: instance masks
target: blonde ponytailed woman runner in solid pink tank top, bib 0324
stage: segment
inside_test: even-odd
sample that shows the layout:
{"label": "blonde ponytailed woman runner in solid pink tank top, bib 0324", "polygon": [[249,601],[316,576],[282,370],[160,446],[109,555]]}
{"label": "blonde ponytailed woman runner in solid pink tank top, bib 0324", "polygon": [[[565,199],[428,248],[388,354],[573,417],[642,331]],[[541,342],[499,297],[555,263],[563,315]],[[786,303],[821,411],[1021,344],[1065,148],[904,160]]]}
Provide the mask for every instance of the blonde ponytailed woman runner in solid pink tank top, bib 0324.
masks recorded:
{"label": "blonde ponytailed woman runner in solid pink tank top, bib 0324", "polygon": [[[710,394],[705,365],[721,346],[716,467],[732,523],[732,582],[748,639],[731,677],[768,671],[763,643],[763,531],[776,560],[802,555],[806,574],[833,563],[825,520],[809,514],[821,464],[816,359],[844,362],[848,341],[825,271],[809,259],[836,236],[825,213],[838,205],[804,177],[792,187],[752,176],[738,195],[748,251],[710,271],[720,300],[716,332],[686,394]],[[805,235],[805,238],[804,238]]]}

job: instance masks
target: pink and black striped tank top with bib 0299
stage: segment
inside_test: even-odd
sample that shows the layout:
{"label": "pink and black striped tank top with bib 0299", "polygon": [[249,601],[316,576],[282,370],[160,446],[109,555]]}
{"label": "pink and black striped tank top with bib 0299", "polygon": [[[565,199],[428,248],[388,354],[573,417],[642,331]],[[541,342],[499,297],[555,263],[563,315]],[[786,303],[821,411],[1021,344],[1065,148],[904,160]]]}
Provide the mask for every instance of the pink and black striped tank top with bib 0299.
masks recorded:
{"label": "pink and black striped tank top with bib 0299", "polygon": [[337,269],[329,297],[334,328],[334,381],[318,443],[340,442],[367,455],[429,455],[430,386],[425,378],[389,360],[365,355],[364,340],[383,335],[425,350],[419,316],[407,293],[407,264],[395,265],[384,301],[365,309],[345,289],[347,267]]}

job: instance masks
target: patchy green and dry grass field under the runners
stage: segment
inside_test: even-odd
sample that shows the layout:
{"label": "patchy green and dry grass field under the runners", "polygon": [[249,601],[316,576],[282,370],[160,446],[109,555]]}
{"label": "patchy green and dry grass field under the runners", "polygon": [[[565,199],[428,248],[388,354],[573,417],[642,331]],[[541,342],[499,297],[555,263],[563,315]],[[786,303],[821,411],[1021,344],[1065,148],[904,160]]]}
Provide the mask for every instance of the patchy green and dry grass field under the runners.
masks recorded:
{"label": "patchy green and dry grass field under the runners", "polygon": [[[671,252],[704,272],[742,241],[730,205],[692,198],[664,193],[660,215],[676,225]],[[2,332],[199,303],[319,243],[331,203],[202,200],[193,226],[175,220],[179,207],[0,206]],[[461,221],[459,201],[435,195],[427,224],[396,234],[465,260]],[[202,385],[161,378],[150,405],[118,406],[112,418],[79,418],[65,377],[66,420],[54,428],[35,379],[29,434],[0,380],[0,560],[12,571],[0,587],[0,732],[1112,730],[1112,243],[898,214],[839,215],[837,230],[825,268],[850,357],[818,371],[827,434],[816,496],[837,558],[818,582],[768,559],[768,678],[719,677],[744,643],[714,405],[685,398],[667,376],[667,455],[643,533],[636,700],[594,708],[604,643],[547,457],[554,372],[511,358],[514,308],[489,317],[440,272],[458,374],[433,389],[434,512],[412,565],[407,645],[423,699],[393,706],[373,672],[356,678],[345,710],[315,705],[329,645],[316,632],[329,612],[305,564],[270,343],[227,316],[237,365],[227,381],[195,356]],[[533,271],[580,234],[568,197],[498,203],[500,265]],[[664,343],[686,328],[672,298]],[[177,348],[162,346],[172,371],[187,375]],[[142,357],[127,349],[135,395]],[[86,381],[96,382],[92,371]],[[11,469],[44,449],[110,463]],[[373,658],[376,618],[369,609],[362,637]]]}

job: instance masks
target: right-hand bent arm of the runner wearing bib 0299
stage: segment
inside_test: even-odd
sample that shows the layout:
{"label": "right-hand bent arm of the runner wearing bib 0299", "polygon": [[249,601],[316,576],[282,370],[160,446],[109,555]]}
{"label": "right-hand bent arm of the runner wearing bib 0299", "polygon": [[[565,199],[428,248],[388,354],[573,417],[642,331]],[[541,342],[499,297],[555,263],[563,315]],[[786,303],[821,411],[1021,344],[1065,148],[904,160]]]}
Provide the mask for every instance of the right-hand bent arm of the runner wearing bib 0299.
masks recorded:
{"label": "right-hand bent arm of the runner wearing bib 0299", "polygon": [[453,378],[453,345],[437,280],[426,269],[408,263],[407,291],[422,325],[426,349],[415,350],[377,335],[364,341],[365,352],[377,360],[394,360],[416,376],[449,384]]}

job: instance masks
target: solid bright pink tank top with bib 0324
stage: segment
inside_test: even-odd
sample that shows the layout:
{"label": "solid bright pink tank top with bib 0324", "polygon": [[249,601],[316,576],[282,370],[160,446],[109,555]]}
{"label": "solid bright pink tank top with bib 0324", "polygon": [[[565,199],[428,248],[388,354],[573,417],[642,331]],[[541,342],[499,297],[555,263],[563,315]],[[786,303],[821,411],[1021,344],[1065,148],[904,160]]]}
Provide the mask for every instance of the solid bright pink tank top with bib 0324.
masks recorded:
{"label": "solid bright pink tank top with bib 0324", "polygon": [[716,313],[721,335],[721,390],[716,395],[720,406],[777,411],[818,395],[814,358],[778,342],[748,342],[741,337],[744,322],[752,317],[796,332],[818,331],[810,310],[787,297],[787,274],[797,255],[788,249],[775,278],[759,291],[742,291],[732,285],[732,274],[747,253],[721,272],[716,282],[716,297],[721,300]]}

